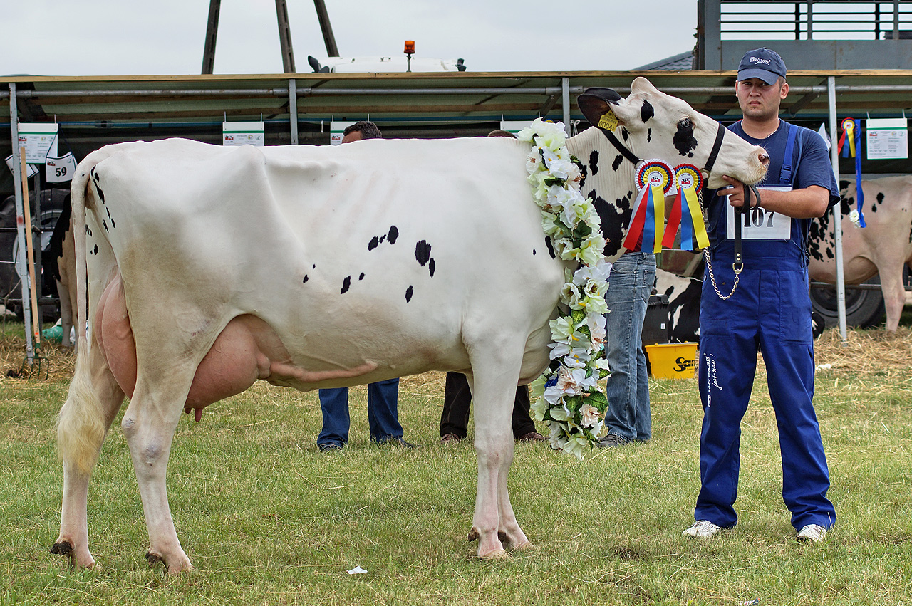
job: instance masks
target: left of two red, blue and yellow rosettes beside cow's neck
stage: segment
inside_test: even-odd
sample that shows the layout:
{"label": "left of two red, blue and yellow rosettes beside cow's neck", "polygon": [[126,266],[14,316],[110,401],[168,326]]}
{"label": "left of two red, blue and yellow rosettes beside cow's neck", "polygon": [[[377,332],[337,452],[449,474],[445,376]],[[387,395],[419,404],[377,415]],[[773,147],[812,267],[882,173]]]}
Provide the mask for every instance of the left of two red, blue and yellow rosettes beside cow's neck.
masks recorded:
{"label": "left of two red, blue and yellow rosettes beside cow's neck", "polygon": [[665,230],[665,194],[675,187],[675,173],[660,159],[648,159],[637,166],[637,200],[633,204],[630,228],[624,239],[624,248],[637,250],[640,236],[641,251],[662,251],[662,234]]}

